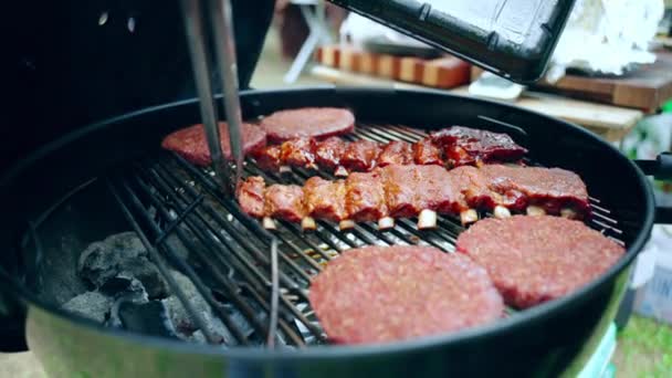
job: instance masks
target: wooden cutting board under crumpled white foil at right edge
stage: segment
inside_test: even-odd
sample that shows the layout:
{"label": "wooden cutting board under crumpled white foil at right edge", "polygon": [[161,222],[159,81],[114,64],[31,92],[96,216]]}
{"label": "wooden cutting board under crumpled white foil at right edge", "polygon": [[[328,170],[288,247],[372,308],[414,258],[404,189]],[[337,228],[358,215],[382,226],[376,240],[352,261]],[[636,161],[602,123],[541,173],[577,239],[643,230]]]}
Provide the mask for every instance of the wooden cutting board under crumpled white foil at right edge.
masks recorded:
{"label": "wooden cutting board under crumpled white foil at right edge", "polygon": [[[472,77],[480,75],[480,70],[472,71]],[[540,82],[533,87],[574,98],[654,113],[672,98],[672,52],[659,52],[655,63],[644,65],[623,77],[567,75],[555,84]]]}

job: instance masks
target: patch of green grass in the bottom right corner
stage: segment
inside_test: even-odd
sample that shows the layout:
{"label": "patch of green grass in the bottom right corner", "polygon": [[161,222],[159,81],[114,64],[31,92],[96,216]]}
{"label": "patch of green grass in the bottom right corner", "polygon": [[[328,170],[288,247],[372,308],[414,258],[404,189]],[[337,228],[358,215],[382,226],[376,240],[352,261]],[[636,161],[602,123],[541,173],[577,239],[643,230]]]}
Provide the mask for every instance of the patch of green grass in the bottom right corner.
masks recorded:
{"label": "patch of green grass in the bottom right corner", "polygon": [[618,336],[617,377],[672,377],[672,327],[632,316]]}

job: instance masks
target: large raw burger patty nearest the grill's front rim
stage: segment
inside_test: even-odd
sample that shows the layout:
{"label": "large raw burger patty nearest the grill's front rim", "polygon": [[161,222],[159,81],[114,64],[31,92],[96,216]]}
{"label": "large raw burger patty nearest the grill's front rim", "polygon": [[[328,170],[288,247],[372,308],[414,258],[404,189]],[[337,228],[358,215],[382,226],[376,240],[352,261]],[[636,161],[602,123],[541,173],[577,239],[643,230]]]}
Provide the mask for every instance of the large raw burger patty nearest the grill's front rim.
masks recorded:
{"label": "large raw burger patty nearest the grill's front rim", "polygon": [[484,269],[429,246],[365,246],[330,261],[309,301],[329,339],[388,343],[498,318],[503,300]]}

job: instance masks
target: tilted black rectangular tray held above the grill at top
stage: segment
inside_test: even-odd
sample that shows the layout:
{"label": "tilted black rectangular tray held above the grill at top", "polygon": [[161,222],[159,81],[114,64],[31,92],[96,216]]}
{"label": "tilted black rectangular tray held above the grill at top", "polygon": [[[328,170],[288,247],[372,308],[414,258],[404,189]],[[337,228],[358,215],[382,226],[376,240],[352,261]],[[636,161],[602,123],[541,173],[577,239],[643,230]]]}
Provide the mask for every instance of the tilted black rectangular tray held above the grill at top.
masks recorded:
{"label": "tilted black rectangular tray held above the grill at top", "polygon": [[537,81],[574,0],[329,0],[519,83]]}

